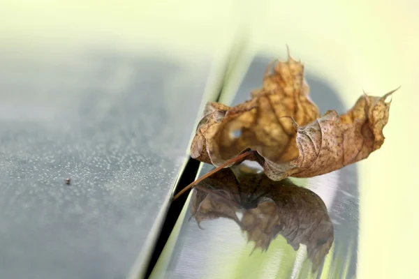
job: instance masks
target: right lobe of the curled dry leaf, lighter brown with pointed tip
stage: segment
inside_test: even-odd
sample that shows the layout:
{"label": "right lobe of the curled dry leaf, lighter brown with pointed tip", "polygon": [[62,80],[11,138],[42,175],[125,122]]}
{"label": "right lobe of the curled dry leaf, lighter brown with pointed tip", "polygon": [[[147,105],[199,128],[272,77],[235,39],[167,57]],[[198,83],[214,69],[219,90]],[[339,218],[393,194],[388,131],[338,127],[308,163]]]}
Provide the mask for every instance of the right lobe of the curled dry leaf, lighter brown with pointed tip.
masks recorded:
{"label": "right lobe of the curled dry leaf, lighter brown with pointed tip", "polygon": [[331,110],[309,125],[298,127],[299,156],[281,164],[265,160],[265,174],[274,180],[312,177],[367,158],[384,142],[383,128],[390,110],[385,99],[393,92],[383,97],[361,96],[346,114],[339,116]]}

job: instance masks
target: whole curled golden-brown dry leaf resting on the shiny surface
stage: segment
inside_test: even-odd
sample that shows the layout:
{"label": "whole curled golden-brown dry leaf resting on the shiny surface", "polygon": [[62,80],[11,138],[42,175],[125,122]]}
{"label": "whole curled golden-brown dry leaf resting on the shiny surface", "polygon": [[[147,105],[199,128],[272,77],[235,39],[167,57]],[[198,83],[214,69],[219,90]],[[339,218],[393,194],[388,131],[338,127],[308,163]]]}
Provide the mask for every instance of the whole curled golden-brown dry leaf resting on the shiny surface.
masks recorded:
{"label": "whole curled golden-brown dry leaf resting on the shiny surface", "polygon": [[250,100],[235,107],[207,104],[191,156],[230,167],[242,162],[237,154],[250,150],[247,160],[257,160],[273,180],[333,172],[381,147],[390,111],[385,99],[395,91],[364,94],[346,114],[330,110],[320,116],[309,99],[304,66],[288,55],[288,61],[267,66],[263,86]]}

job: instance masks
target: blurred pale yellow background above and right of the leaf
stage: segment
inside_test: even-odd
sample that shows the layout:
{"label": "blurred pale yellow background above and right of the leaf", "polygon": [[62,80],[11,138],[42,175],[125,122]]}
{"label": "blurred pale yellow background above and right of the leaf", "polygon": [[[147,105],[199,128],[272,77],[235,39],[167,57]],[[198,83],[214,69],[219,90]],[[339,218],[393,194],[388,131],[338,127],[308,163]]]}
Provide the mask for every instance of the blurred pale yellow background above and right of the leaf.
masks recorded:
{"label": "blurred pale yellow background above and right of the leaf", "polygon": [[385,144],[359,163],[362,279],[419,278],[418,27],[415,0],[0,3],[0,51],[10,56],[106,46],[159,49],[182,54],[189,63],[207,54],[222,61],[242,32],[249,36],[249,54],[262,50],[284,57],[288,44],[308,70],[335,86],[348,107],[363,89],[382,95],[402,85],[392,98]]}

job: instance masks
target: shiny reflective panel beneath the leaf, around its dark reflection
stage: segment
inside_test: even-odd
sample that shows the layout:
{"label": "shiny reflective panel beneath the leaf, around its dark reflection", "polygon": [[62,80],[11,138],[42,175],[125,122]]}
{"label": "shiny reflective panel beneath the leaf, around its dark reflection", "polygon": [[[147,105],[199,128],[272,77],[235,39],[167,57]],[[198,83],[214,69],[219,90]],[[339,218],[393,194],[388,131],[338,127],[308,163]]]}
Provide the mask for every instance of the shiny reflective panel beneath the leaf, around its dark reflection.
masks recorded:
{"label": "shiny reflective panel beneath the leaf, around its dark reflection", "polygon": [[[233,104],[246,100],[251,89],[260,86],[267,62],[267,59],[257,57],[251,63]],[[321,112],[332,108],[338,112],[345,110],[337,94],[325,82],[310,73],[306,73],[306,77],[311,98]],[[211,168],[205,165],[200,175]],[[182,218],[178,220],[179,230],[173,232],[152,278],[353,278],[356,272],[359,227],[357,165],[349,165],[337,172],[312,179],[293,179],[293,182],[323,200],[334,228],[335,241],[316,273],[310,272],[306,260],[311,255],[310,248],[307,250],[304,245],[295,251],[287,244],[287,236],[279,234],[270,242],[266,252],[256,249],[249,256],[255,243],[247,243],[248,236],[242,234],[237,220],[203,220],[200,226],[204,229],[200,229],[195,221],[189,221],[197,211],[196,199],[190,199],[191,204],[188,205],[183,221]],[[298,217],[299,209],[299,206],[295,206],[288,208],[288,211],[294,210],[293,213]],[[288,217],[282,216],[284,220],[299,223],[289,218],[292,213],[284,214],[288,214]],[[278,216],[281,216],[281,210]],[[238,218],[238,221],[242,222],[242,218]],[[294,248],[298,246],[295,244]]]}

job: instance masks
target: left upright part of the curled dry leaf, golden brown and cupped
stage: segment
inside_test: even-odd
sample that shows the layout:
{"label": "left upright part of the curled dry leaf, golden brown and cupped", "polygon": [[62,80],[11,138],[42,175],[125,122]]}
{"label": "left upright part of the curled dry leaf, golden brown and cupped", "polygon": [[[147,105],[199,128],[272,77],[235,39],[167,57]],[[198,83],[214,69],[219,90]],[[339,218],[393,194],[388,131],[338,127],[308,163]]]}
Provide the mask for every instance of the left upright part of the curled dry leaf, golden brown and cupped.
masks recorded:
{"label": "left upright part of the curled dry leaf, golden brown and cupped", "polygon": [[[273,63],[273,62],[272,62]],[[292,116],[300,126],[314,121],[318,108],[309,99],[304,82],[304,66],[288,57],[272,63],[263,78],[263,88],[251,93],[251,100],[235,107],[209,103],[215,110],[203,117],[191,145],[191,156],[205,163],[221,165],[244,149],[258,151],[275,163],[298,156],[293,123],[282,116]]]}

